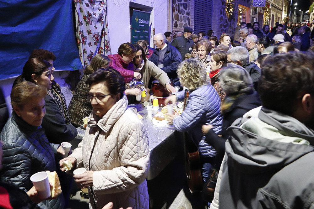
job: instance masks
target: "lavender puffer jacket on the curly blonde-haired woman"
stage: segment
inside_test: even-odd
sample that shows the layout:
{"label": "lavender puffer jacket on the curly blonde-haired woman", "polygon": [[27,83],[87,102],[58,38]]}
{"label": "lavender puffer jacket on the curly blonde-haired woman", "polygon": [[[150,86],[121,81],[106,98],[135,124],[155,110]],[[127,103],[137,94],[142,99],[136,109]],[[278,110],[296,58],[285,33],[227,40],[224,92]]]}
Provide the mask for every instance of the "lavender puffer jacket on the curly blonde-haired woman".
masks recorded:
{"label": "lavender puffer jacket on the curly blonde-haired woman", "polygon": [[[177,100],[184,99],[184,91],[173,93]],[[220,98],[213,86],[204,85],[194,91],[190,91],[189,103],[180,116],[173,119],[173,125],[177,131],[188,131],[203,157],[213,157],[216,154],[214,148],[204,141],[202,125],[210,124],[215,133],[222,128],[220,114]]]}

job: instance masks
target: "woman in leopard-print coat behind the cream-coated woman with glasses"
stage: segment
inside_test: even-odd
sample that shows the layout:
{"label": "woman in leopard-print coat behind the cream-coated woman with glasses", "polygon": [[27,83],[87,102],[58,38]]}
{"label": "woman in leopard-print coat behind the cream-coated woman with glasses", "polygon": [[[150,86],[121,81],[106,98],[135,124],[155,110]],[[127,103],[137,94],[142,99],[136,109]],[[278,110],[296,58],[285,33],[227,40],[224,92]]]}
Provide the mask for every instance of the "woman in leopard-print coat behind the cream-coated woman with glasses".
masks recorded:
{"label": "woman in leopard-print coat behind the cream-coated woman with glasses", "polygon": [[90,74],[95,72],[99,68],[107,68],[110,63],[110,59],[103,55],[98,54],[93,57],[90,65],[87,65],[84,69],[84,75],[78,82],[75,88],[73,97],[69,104],[69,115],[71,123],[75,127],[79,127],[83,124],[83,118],[88,117],[92,112],[93,107],[90,102],[87,101],[86,96],[89,94],[89,85],[85,83]]}

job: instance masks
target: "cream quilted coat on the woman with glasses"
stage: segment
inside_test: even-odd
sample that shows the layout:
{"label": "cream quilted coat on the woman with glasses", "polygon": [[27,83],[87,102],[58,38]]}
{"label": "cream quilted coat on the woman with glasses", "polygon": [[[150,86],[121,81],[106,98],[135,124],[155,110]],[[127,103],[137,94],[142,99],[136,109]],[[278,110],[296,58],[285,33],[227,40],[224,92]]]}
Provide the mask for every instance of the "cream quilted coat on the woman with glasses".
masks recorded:
{"label": "cream quilted coat on the woman with glasses", "polygon": [[[70,157],[93,170],[97,208],[112,201],[114,208],[148,209],[146,177],[149,170],[149,142],[143,123],[127,108],[124,96],[99,118],[92,112],[83,141]],[[95,142],[96,136],[99,134]],[[89,208],[95,208],[89,188]]]}

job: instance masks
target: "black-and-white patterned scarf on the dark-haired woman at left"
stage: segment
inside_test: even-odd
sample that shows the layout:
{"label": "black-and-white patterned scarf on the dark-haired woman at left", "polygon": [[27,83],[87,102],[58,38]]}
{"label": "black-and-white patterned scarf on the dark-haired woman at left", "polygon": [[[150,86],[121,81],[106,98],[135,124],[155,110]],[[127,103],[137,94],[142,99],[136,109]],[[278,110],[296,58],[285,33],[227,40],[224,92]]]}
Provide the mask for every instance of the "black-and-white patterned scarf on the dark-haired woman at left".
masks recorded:
{"label": "black-and-white patterned scarf on the dark-haired woman at left", "polygon": [[55,81],[52,82],[51,89],[47,91],[47,94],[52,97],[58,104],[58,107],[65,119],[65,123],[71,124],[71,120],[68,113],[67,103],[65,101],[65,97],[61,92],[60,85],[57,84]]}

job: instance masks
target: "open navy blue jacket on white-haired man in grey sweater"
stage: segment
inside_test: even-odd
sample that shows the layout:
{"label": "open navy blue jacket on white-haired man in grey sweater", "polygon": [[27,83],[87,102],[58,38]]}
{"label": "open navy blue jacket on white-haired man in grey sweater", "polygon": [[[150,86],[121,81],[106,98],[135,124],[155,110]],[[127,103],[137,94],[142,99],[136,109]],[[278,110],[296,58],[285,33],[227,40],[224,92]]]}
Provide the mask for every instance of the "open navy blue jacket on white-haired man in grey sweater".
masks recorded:
{"label": "open navy blue jacket on white-haired man in grey sweater", "polygon": [[[156,66],[158,66],[159,60],[159,50],[155,49],[154,53],[149,58]],[[164,56],[164,67],[161,70],[167,73],[167,76],[173,82],[174,86],[180,86],[180,81],[176,70],[178,65],[181,63],[181,54],[180,52],[173,46],[167,44],[166,53]]]}

